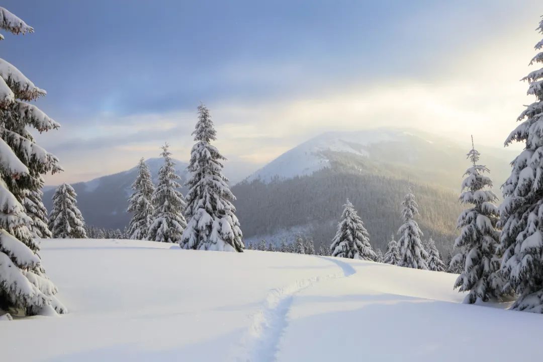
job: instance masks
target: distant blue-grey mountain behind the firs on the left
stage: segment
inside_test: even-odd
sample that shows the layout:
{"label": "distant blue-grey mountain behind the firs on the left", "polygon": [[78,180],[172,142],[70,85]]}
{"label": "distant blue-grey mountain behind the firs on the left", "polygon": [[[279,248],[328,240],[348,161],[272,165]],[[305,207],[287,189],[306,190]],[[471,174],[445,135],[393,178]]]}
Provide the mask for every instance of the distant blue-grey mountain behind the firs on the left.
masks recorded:
{"label": "distant blue-grey mountain behind the firs on the left", "polygon": [[[146,162],[156,185],[163,159],[161,157],[149,158]],[[182,182],[185,182],[187,164],[177,160],[174,162],[176,163],[176,173],[181,176]],[[127,171],[72,184],[77,193],[77,205],[85,218],[85,223],[105,228],[123,229],[128,226],[130,215],[126,209],[128,198],[132,193],[131,185],[136,179],[136,175],[137,167],[135,166]],[[43,189],[43,203],[48,210],[53,206],[54,189],[54,187]]]}

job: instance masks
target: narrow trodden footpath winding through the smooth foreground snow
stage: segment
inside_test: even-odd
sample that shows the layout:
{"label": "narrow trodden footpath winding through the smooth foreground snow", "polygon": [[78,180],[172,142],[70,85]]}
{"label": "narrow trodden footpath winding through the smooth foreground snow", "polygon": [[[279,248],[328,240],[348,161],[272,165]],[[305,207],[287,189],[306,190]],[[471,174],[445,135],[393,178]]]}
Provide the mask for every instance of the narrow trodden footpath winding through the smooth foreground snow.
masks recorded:
{"label": "narrow trodden footpath winding through the smooth foreground snow", "polygon": [[337,258],[315,256],[339,266],[342,274],[331,274],[324,277],[312,277],[296,281],[287,287],[276,288],[268,293],[266,301],[258,312],[252,316],[251,326],[243,336],[239,350],[233,361],[236,362],[274,362],[277,347],[288,326],[288,312],[291,309],[295,294],[311,287],[315,283],[332,278],[345,278],[356,274],[355,268]]}

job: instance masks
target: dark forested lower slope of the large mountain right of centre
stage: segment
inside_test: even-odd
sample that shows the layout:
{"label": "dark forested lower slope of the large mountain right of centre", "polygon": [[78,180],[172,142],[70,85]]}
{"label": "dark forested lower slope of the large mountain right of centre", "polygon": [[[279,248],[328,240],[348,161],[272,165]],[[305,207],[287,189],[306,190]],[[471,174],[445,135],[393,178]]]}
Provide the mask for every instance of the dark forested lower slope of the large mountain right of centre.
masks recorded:
{"label": "dark forested lower slope of the large mountain right of centre", "polygon": [[[348,158],[344,154],[337,157]],[[386,169],[359,161],[332,162],[330,168],[288,180],[255,180],[234,186],[245,237],[255,241],[268,238],[278,243],[288,234],[292,241],[294,233],[301,230],[314,239],[315,245],[328,244],[349,198],[370,233],[372,245],[384,250],[390,234],[395,234],[401,224],[400,207],[408,182]],[[355,165],[356,168],[351,167]],[[450,249],[461,211],[458,195],[437,186],[412,185],[420,206],[422,231],[436,240],[440,250]]]}

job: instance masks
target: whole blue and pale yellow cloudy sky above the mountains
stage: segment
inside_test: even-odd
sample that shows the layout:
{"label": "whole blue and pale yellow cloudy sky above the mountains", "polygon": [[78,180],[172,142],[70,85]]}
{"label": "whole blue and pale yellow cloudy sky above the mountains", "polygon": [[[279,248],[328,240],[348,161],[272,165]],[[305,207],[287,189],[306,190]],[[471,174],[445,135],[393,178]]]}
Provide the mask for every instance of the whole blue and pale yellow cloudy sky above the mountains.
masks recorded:
{"label": "whole blue and pale yellow cloudy sky above the mountains", "polygon": [[87,181],[187,161],[205,103],[239,181],[325,131],[414,128],[503,147],[542,35],[537,0],[4,0],[35,33],[2,58],[61,124],[37,140]]}

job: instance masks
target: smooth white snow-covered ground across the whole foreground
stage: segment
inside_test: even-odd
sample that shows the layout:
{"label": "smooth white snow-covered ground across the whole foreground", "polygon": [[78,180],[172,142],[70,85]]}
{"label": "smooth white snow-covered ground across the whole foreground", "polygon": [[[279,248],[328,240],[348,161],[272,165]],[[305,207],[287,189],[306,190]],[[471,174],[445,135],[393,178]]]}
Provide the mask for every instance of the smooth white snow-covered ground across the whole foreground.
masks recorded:
{"label": "smooth white snow-covered ground across the whole foreground", "polygon": [[0,321],[2,361],[512,361],[543,316],[467,306],[456,276],[372,262],[43,240],[70,314]]}

